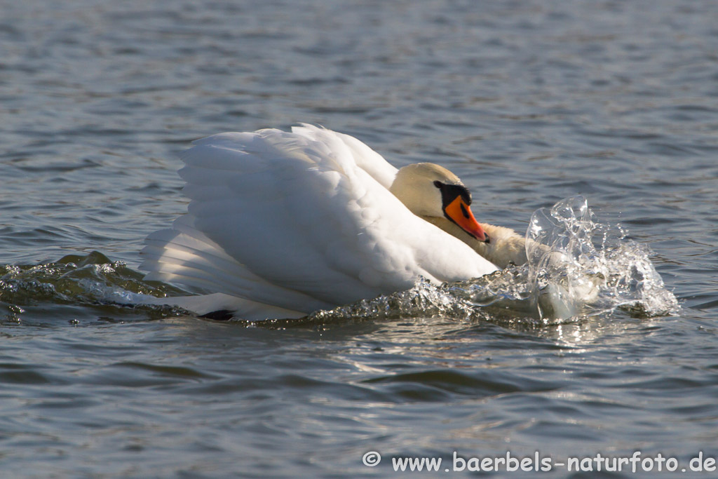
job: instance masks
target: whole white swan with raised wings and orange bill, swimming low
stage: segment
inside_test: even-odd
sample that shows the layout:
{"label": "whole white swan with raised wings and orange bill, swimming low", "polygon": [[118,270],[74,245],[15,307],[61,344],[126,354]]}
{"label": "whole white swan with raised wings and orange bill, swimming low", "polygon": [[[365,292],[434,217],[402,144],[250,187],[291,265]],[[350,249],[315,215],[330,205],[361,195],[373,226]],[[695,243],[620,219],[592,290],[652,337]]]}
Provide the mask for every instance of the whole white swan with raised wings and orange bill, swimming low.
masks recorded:
{"label": "whole white swan with raised wings and orange bill, swimming low", "polygon": [[523,238],[479,225],[447,169],[397,170],[352,136],[309,125],[223,133],[181,157],[188,213],[146,239],[141,268],[148,280],[211,294],[160,304],[302,317],[421,276],[439,284],[496,271],[477,251],[502,266],[521,262],[511,251]]}

